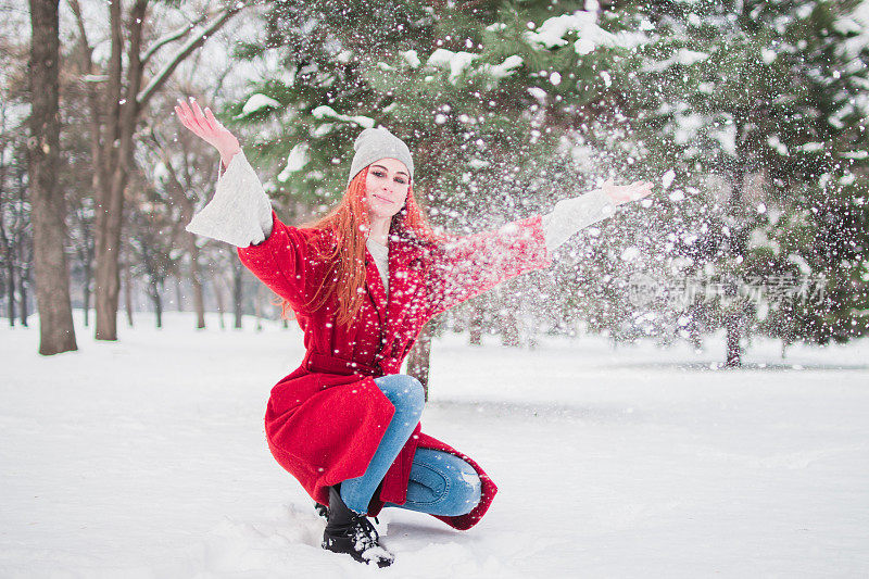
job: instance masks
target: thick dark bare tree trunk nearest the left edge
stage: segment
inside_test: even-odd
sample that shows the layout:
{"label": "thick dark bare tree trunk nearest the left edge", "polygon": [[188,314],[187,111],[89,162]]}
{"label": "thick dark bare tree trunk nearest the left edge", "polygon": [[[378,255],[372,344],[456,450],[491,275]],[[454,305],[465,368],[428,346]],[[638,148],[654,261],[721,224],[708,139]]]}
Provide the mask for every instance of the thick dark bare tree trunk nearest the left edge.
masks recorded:
{"label": "thick dark bare tree trunk nearest the left edge", "polygon": [[60,115],[58,0],[30,0],[30,178],[36,300],[39,307],[39,353],[77,350],[64,241],[63,191],[58,187]]}

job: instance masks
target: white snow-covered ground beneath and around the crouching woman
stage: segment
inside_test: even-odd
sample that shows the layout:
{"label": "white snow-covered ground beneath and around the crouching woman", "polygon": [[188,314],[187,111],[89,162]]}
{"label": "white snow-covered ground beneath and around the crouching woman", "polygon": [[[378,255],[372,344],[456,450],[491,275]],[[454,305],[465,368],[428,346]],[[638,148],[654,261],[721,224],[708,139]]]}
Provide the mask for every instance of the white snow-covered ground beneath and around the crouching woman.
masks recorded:
{"label": "white snow-covered ground beneath and around the crouching woman", "polygon": [[386,509],[387,569],[319,547],[263,413],[298,328],[0,328],[0,577],[868,577],[869,341],[432,350],[427,432],[500,487],[469,531]]}

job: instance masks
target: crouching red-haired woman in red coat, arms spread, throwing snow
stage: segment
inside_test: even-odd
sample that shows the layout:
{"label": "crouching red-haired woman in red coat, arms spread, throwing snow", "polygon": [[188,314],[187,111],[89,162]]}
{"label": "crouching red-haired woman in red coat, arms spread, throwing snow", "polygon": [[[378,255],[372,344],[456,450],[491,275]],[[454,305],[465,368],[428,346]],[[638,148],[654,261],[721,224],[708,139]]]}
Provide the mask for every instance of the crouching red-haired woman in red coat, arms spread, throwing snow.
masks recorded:
{"label": "crouching red-haired woman in red coat, arms spread, throwing snow", "polygon": [[179,100],[175,111],[219,151],[226,171],[187,229],[237,246],[304,331],[304,360],[272,389],[265,431],[278,463],[328,505],[322,546],[391,564],[367,518],[385,506],[428,513],[456,529],[476,525],[498,489],[469,456],[420,431],[423,387],[399,374],[402,361],[430,318],[550,266],[570,235],[647,196],[651,184],[616,187],[610,179],[546,215],[446,240],[416,203],[406,144],[367,128],[355,140],[340,204],[293,227],[277,217],[238,139],[207,108]]}

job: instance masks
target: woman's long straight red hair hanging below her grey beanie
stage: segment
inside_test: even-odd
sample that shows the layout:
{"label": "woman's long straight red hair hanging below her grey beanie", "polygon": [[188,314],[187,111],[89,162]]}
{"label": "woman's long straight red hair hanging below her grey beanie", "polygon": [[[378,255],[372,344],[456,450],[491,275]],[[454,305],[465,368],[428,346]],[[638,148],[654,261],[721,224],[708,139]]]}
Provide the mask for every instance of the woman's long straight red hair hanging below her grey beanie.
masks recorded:
{"label": "woman's long straight red hair hanging below her grey beanie", "polygon": [[[341,201],[326,215],[302,224],[301,227],[325,229],[331,234],[328,247],[318,247],[319,259],[330,263],[329,274],[306,304],[312,310],[323,305],[333,294],[338,294],[338,324],[349,324],[362,307],[365,295],[365,241],[371,228],[368,206],[365,202],[365,180],[368,168],[360,171],[344,190]],[[421,243],[437,243],[445,237],[436,234],[426,214],[416,202],[413,187],[407,187],[407,200],[404,206],[392,216],[389,235],[403,239],[415,239]],[[281,316],[288,317],[290,303],[281,303]]]}

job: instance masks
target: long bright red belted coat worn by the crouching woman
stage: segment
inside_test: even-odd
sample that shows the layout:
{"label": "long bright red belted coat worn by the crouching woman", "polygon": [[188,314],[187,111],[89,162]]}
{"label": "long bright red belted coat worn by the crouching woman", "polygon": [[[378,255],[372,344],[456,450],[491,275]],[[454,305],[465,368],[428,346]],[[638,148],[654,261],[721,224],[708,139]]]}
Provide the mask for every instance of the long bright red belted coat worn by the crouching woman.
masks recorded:
{"label": "long bright red belted coat worn by the crouching woman", "polygon": [[[519,219],[493,231],[432,246],[389,236],[389,297],[366,251],[366,293],[350,327],[336,320],[337,299],[317,311],[305,307],[324,281],[327,266],[315,247],[328,247],[324,230],[286,225],[274,214],[272,235],[259,246],[239,248],[242,263],[287,299],[304,331],[302,365],[273,389],[265,414],[272,454],[317,502],[328,503],[328,487],[365,473],[394,413],[374,378],[398,374],[423,325],[437,314],[532,269],[549,267],[541,217]],[[438,516],[468,529],[483,516],[498,491],[470,457],[421,433],[420,425],[387,473],[376,515],[385,502],[403,504],[416,448],[436,449],[467,461],[482,481],[480,503],[462,516]]]}

